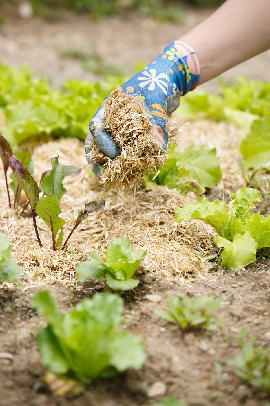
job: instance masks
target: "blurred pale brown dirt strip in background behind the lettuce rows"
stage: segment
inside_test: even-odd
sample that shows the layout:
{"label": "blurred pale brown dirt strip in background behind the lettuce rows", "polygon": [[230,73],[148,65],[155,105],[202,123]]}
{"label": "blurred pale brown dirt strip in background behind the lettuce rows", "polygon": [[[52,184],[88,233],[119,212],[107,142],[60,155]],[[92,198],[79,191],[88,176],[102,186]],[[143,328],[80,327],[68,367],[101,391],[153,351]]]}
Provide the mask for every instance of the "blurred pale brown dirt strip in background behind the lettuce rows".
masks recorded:
{"label": "blurred pale brown dirt strip in background behind the lettuce rows", "polygon": [[[39,17],[30,20],[9,17],[0,27],[0,59],[15,66],[26,63],[37,75],[47,76],[54,86],[73,78],[96,80],[100,78],[85,71],[79,61],[60,58],[60,52],[95,50],[106,63],[132,68],[138,60],[146,63],[153,60],[167,43],[180,38],[213,11],[189,8],[183,21],[162,24],[133,14],[126,19],[115,16],[100,21],[91,21],[87,15],[70,15],[54,23]],[[269,80],[269,64],[270,50],[230,69],[223,78],[235,80],[244,75],[249,79]],[[219,88],[217,79],[202,86],[211,91]]]}

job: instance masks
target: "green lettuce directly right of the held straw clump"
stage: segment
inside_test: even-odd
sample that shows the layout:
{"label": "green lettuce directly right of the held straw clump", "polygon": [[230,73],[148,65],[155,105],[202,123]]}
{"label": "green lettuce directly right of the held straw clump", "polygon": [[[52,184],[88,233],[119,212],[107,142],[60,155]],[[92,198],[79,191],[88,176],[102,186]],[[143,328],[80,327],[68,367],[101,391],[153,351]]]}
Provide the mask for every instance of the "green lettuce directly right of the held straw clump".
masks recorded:
{"label": "green lettuce directly right of the held straw clump", "polygon": [[198,194],[202,194],[205,188],[216,186],[222,177],[216,149],[207,145],[200,148],[191,145],[183,151],[174,149],[165,162],[167,170],[164,166],[158,166],[158,175],[151,173],[148,181],[153,181],[154,177],[157,185],[178,188],[181,192],[195,189]]}

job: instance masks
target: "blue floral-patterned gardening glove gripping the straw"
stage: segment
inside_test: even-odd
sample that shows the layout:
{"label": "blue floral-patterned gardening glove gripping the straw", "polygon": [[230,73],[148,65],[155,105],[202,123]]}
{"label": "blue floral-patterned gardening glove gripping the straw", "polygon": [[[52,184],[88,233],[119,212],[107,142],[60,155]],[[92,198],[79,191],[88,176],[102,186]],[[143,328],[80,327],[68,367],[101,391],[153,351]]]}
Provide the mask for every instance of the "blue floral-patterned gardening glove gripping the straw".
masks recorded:
{"label": "blue floral-patterned gardening glove gripping the straw", "polygon": [[[165,150],[168,143],[168,114],[179,106],[180,96],[196,88],[199,78],[200,66],[193,49],[185,42],[173,41],[161,55],[121,86],[124,93],[141,95],[153,124],[151,132],[161,149]],[[85,140],[86,158],[97,176],[100,175],[102,164],[91,162],[89,141],[92,137],[110,158],[114,159],[120,153],[110,134],[101,127],[105,111],[106,98],[93,117]]]}

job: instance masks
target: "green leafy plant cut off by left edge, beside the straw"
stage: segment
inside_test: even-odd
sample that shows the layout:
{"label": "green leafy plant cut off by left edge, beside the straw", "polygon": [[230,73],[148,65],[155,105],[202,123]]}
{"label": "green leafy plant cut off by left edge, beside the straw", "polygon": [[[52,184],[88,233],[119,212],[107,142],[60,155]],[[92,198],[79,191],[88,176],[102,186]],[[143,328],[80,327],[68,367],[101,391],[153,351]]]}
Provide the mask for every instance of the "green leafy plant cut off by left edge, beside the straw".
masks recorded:
{"label": "green leafy plant cut off by left edge, beside the straw", "polygon": [[0,283],[14,281],[23,272],[17,262],[11,258],[11,248],[12,244],[0,231]]}

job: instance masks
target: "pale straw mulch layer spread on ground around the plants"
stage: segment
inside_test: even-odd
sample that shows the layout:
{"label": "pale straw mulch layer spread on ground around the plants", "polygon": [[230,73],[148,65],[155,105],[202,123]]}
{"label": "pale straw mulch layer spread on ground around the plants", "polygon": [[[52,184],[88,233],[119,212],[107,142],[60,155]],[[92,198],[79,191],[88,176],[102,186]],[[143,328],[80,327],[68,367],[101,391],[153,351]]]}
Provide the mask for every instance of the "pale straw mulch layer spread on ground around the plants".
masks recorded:
{"label": "pale straw mulch layer spread on ground around the plants", "polygon": [[[240,130],[229,124],[211,121],[192,124],[188,131],[186,129],[179,135],[181,147],[189,143],[208,143],[217,147],[224,174],[219,188],[243,186],[237,166],[242,136]],[[148,255],[142,261],[146,272],[166,272],[168,277],[182,280],[209,274],[207,260],[197,261],[197,256],[203,253],[207,259],[214,230],[200,220],[182,222],[181,225],[174,221],[177,207],[185,201],[196,201],[193,193],[183,196],[176,190],[160,187],[150,192],[138,190],[135,197],[132,192],[119,197],[111,189],[100,190],[96,177],[89,178],[87,174],[83,143],[72,138],[50,141],[34,149],[32,158],[37,180],[45,169],[50,168],[50,158],[57,155],[61,164],[83,168],[79,176],[67,177],[64,181],[67,194],[62,198],[60,207],[63,212],[61,217],[67,222],[65,236],[85,203],[106,199],[106,206],[103,211],[90,214],[74,232],[67,247],[54,253],[50,230],[39,218],[37,225],[44,248],[40,248],[36,241],[32,218],[17,217],[15,210],[8,208],[4,177],[0,177],[0,231],[6,233],[13,243],[13,258],[25,271],[21,277],[25,288],[56,280],[68,285],[76,284],[76,264],[88,259],[93,250],[105,260],[106,247],[121,235],[129,235],[136,248],[147,248]],[[23,203],[25,201],[22,206]]]}

